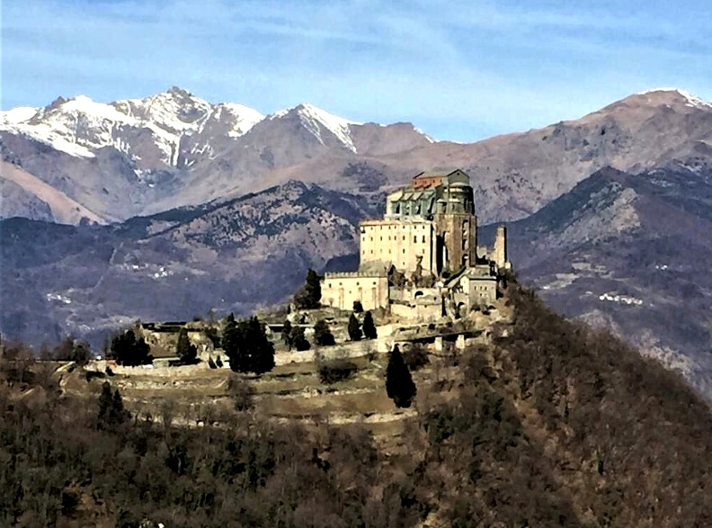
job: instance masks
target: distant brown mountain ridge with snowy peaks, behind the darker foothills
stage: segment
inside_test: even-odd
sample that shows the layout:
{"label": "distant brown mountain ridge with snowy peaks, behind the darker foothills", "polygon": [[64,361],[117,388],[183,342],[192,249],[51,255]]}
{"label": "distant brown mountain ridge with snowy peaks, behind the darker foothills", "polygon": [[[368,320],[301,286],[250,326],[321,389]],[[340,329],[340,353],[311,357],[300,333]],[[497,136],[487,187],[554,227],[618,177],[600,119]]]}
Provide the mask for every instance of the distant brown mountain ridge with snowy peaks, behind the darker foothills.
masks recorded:
{"label": "distant brown mountain ridge with snowy peaks, behind the darker foothills", "polygon": [[[0,155],[23,171],[0,186],[4,211],[31,218],[75,221],[85,214],[60,207],[75,201],[91,218],[127,219],[289,179],[379,192],[423,169],[459,166],[473,178],[482,219],[513,219],[602,166],[712,166],[712,104],[656,89],[578,120],[455,144],[433,141],[411,123],[359,123],[308,103],[263,116],[172,88],[144,99],[77,96],[0,112]],[[62,214],[48,212],[55,210]]]}

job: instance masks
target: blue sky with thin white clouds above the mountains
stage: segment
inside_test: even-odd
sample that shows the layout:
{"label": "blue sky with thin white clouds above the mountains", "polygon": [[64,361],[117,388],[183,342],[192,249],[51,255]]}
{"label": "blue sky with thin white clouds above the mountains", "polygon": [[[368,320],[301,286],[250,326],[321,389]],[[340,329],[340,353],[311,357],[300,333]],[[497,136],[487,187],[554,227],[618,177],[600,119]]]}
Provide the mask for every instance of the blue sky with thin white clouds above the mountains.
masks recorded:
{"label": "blue sky with thin white clouds above the mountains", "polygon": [[712,99],[712,3],[4,0],[3,109],[179,85],[469,141],[677,86]]}

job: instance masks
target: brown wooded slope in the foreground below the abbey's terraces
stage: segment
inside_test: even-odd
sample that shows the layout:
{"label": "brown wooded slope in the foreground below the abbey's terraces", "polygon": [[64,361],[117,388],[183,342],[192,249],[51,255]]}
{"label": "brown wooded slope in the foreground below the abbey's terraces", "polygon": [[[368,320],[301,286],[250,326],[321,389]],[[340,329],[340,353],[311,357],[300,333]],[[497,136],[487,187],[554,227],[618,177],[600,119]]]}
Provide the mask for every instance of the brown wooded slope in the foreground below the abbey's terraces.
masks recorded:
{"label": "brown wooded slope in the foreground below the abbey's terraces", "polygon": [[396,439],[245,410],[162,425],[99,396],[102,380],[68,396],[6,345],[0,524],[710,525],[707,404],[532,292],[511,283],[507,301],[512,325],[421,381]]}

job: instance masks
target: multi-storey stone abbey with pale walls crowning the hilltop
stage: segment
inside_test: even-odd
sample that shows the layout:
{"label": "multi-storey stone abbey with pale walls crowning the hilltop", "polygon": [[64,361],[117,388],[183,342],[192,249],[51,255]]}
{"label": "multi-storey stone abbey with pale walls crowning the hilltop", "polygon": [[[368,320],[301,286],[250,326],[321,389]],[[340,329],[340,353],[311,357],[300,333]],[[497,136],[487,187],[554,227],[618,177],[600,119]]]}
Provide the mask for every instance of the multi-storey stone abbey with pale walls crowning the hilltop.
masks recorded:
{"label": "multi-storey stone abbey with pale walls crowning the hilltop", "polygon": [[477,246],[477,217],[469,176],[451,170],[421,173],[387,196],[383,219],[360,222],[357,272],[325,273],[322,303],[352,309],[390,309],[426,322],[460,318],[489,306],[507,260],[506,229],[493,248]]}

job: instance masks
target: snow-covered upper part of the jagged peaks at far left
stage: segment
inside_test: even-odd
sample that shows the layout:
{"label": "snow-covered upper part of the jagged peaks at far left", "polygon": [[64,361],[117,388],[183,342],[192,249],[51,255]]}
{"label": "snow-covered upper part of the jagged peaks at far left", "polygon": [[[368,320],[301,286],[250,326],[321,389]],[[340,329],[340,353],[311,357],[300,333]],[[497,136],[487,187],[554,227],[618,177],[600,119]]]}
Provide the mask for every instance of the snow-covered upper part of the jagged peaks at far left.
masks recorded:
{"label": "snow-covered upper part of the jagged peaks at far left", "polygon": [[[210,104],[180,88],[144,99],[96,103],[85,95],[58,98],[44,108],[0,112],[0,130],[24,134],[77,157],[116,148],[139,169],[177,166],[189,158],[206,130],[238,138],[263,119],[260,112],[234,103]],[[183,139],[194,138],[192,152]],[[195,140],[198,139],[198,140]]]}

